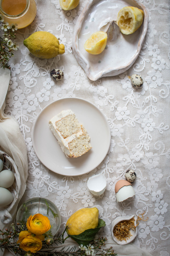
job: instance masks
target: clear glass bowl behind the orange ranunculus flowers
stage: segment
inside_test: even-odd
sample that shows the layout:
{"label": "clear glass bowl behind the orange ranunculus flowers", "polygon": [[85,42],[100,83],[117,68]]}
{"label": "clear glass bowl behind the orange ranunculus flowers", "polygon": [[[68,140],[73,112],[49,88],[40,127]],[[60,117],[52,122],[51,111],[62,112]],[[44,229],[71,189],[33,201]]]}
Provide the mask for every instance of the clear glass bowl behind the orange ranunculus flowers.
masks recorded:
{"label": "clear glass bowl behind the orange ranunculus flowers", "polygon": [[[37,213],[48,217],[52,226],[51,233],[54,236],[60,228],[61,215],[56,205],[48,199],[34,197],[21,204],[17,212],[16,221],[26,221],[30,215],[33,216]],[[57,217],[54,217],[54,214],[57,214]]]}

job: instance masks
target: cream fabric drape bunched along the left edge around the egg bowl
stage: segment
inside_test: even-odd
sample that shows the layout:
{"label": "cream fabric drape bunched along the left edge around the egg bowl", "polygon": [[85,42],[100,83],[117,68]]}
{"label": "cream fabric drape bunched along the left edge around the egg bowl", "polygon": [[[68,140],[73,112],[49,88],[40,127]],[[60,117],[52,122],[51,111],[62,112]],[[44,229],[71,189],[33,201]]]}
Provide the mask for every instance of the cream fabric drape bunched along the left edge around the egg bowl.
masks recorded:
{"label": "cream fabric drape bunched along the left edge around the egg bowl", "polygon": [[[28,175],[27,150],[19,125],[15,118],[4,114],[5,97],[10,81],[10,70],[0,69],[0,149],[11,156],[18,167],[16,193],[13,202],[6,208],[0,209],[0,229],[9,227],[11,219],[15,220],[18,203],[26,189]],[[4,218],[5,216],[5,218]],[[0,250],[0,255],[2,251]]]}

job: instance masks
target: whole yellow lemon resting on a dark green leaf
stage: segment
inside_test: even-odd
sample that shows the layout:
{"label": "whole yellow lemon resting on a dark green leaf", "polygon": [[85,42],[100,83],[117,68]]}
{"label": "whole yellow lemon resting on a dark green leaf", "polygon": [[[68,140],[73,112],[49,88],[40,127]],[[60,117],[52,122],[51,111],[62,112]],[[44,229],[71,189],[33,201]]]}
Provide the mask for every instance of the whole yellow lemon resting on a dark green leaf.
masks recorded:
{"label": "whole yellow lemon resting on a dark green leaf", "polygon": [[79,235],[86,229],[97,228],[98,222],[99,210],[96,207],[82,208],[67,220],[67,232],[69,235]]}

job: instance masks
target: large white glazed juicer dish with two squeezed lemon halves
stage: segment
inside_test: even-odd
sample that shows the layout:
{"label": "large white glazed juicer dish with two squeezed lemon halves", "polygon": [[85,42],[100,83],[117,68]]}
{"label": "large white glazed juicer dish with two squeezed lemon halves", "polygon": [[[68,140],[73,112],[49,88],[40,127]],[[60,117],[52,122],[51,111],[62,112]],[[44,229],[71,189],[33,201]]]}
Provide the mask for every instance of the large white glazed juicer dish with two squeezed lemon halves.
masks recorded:
{"label": "large white glazed juicer dish with two squeezed lemon halves", "polygon": [[[130,35],[123,35],[116,24],[118,12],[125,6],[134,6],[144,11],[142,25]],[[103,76],[119,75],[129,69],[139,55],[147,25],[148,12],[139,1],[90,0],[76,22],[72,38],[73,53],[87,77],[95,81]],[[103,52],[93,55],[85,51],[85,41],[92,33],[108,32],[110,28],[112,36],[107,38]]]}

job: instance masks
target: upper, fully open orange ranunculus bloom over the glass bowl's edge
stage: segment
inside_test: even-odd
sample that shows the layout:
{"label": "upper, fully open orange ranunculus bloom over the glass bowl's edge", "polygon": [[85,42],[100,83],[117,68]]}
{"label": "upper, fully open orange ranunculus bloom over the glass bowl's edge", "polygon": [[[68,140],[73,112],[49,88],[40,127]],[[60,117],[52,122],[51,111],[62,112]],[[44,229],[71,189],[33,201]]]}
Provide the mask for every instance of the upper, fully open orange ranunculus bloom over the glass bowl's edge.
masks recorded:
{"label": "upper, fully open orange ranunculus bloom over the glass bowl's edge", "polygon": [[26,227],[31,233],[35,235],[42,235],[51,228],[51,225],[46,216],[41,213],[37,213],[28,218]]}

